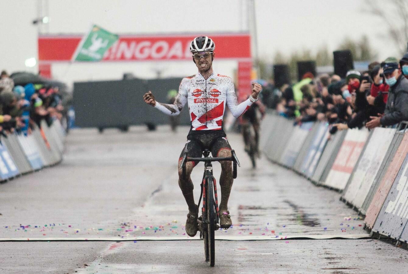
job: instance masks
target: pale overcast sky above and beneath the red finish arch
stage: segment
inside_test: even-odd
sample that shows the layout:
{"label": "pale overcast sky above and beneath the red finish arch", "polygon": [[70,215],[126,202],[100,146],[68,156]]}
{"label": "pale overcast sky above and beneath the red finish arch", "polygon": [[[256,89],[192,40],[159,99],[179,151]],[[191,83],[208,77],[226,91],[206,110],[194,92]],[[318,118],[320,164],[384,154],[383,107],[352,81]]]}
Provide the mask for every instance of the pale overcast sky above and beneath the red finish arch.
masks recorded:
{"label": "pale overcast sky above and beneath the red finish arch", "polygon": [[[247,27],[242,0],[161,1],[161,0],[49,0],[48,33],[85,33],[92,23],[114,33],[196,33],[242,31]],[[386,3],[387,1],[382,1]],[[37,57],[37,0],[0,0],[2,26],[0,69],[36,71],[24,61]],[[277,50],[289,55],[293,50],[315,52],[327,44],[336,49],[347,35],[359,39],[368,35],[379,59],[397,55],[397,49],[381,33],[386,27],[377,18],[362,12],[363,0],[255,0],[259,55],[271,60]],[[243,11],[243,12],[242,12]],[[397,56],[399,57],[399,56]],[[236,64],[214,64],[219,73],[233,72]],[[155,69],[164,76],[195,72],[192,62],[135,62],[116,64],[53,65],[53,75],[67,82],[88,79],[118,79],[123,72],[154,77]]]}

